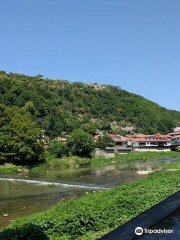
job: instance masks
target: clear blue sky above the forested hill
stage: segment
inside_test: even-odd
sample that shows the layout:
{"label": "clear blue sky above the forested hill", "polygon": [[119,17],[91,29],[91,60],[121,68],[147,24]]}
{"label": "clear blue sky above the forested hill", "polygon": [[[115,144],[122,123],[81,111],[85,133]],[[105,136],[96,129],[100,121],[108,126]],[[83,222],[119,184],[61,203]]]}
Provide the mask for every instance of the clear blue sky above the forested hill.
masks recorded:
{"label": "clear blue sky above the forested hill", "polygon": [[179,0],[1,0],[0,69],[122,87],[180,110]]}

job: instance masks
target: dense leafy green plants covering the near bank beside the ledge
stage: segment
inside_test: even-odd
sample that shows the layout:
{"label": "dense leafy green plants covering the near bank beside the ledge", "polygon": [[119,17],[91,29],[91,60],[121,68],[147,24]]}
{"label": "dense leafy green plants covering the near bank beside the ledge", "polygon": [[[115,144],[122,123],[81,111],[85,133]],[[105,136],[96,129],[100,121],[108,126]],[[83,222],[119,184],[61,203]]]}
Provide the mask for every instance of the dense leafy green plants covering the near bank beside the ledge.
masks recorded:
{"label": "dense leafy green plants covering the near bank beside the ledge", "polygon": [[[97,239],[102,232],[127,222],[178,191],[179,176],[180,171],[151,174],[137,182],[59,203],[43,213],[15,220],[0,233],[0,239],[23,239],[20,236],[26,236],[28,226],[41,229],[44,237],[53,240]],[[92,238],[95,232],[96,237]]]}

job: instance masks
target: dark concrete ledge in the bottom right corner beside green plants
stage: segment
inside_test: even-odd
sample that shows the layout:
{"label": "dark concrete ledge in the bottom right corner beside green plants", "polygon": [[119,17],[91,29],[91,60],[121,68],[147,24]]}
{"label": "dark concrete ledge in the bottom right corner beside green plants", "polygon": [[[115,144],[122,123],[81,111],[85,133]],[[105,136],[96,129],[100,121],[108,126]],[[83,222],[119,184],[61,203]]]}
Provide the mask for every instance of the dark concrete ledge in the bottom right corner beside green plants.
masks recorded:
{"label": "dark concrete ledge in the bottom right corner beside green plants", "polygon": [[152,208],[141,213],[137,217],[131,219],[112,232],[108,233],[101,240],[130,240],[137,235],[135,229],[137,227],[150,228],[161,219],[167,217],[173,211],[180,207],[180,191],[174,193],[162,202],[156,204]]}

